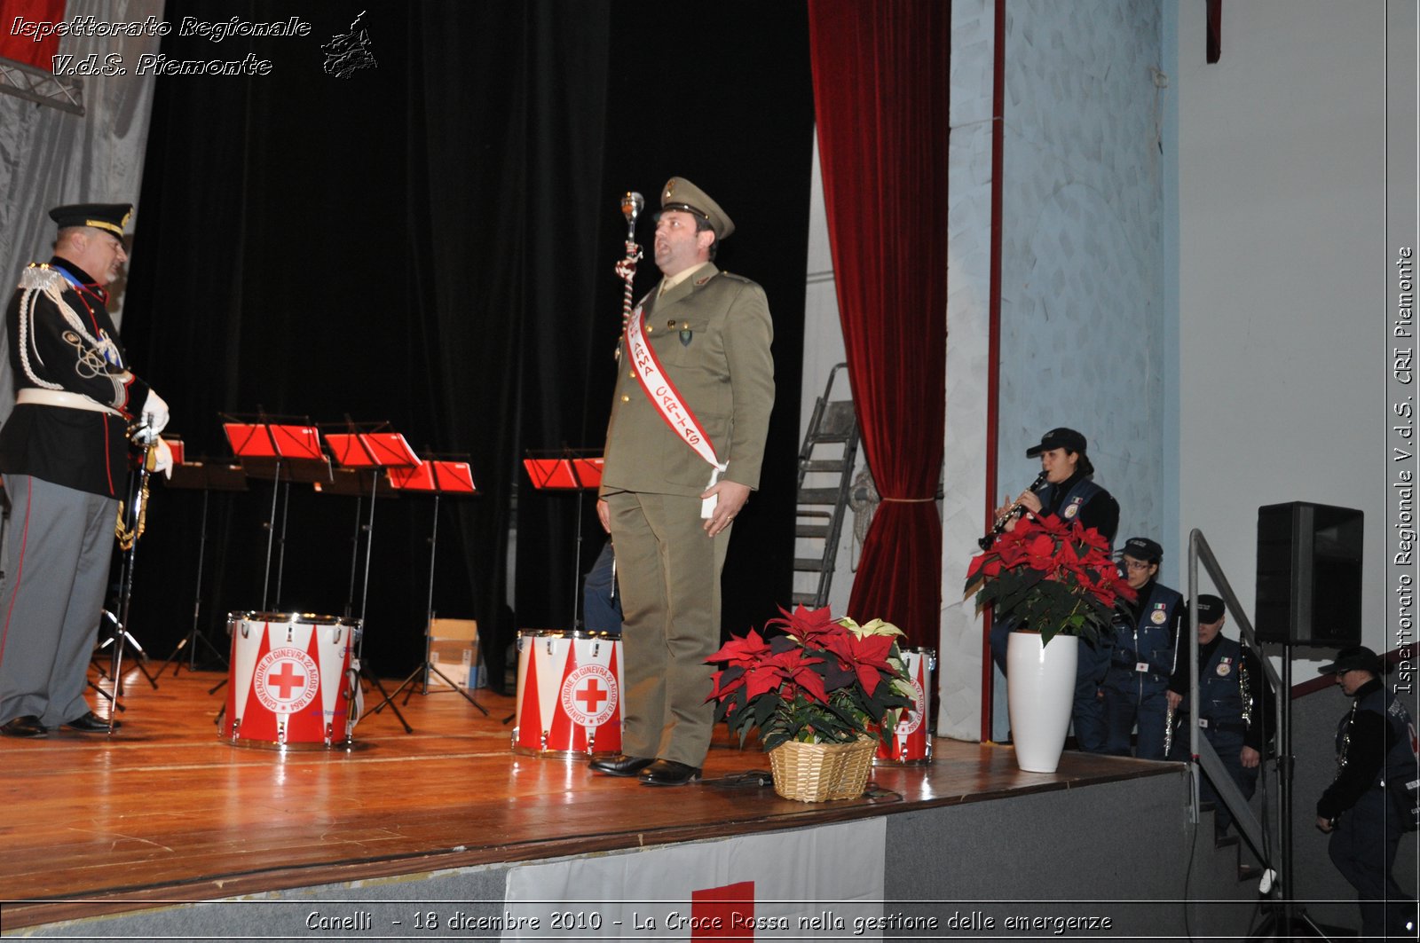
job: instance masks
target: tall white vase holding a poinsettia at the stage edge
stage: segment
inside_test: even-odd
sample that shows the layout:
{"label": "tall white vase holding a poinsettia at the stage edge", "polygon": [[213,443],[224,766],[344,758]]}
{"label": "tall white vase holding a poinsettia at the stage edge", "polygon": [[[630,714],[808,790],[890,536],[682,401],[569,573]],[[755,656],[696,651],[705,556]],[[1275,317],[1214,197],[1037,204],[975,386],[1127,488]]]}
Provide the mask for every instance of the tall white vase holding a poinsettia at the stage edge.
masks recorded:
{"label": "tall white vase holding a poinsettia at the stage edge", "polygon": [[1078,658],[1074,635],[1056,635],[1041,645],[1039,632],[1011,632],[1005,690],[1015,763],[1027,773],[1055,773],[1059,765],[1075,706]]}

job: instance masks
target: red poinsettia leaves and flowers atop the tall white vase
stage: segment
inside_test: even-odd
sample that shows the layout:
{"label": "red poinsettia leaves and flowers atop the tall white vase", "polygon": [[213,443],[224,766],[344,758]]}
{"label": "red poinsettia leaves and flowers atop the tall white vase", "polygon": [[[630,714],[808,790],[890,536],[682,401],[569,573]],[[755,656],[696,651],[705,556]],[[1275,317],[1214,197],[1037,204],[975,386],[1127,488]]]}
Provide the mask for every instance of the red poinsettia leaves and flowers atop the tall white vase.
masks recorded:
{"label": "red poinsettia leaves and flowers atop the tall white vase", "polygon": [[1041,643],[1056,635],[1093,643],[1108,636],[1115,609],[1137,598],[1109,555],[1109,541],[1054,514],[1022,517],[973,557],[966,592],[973,591],[977,609],[994,605],[995,618],[1038,631]]}

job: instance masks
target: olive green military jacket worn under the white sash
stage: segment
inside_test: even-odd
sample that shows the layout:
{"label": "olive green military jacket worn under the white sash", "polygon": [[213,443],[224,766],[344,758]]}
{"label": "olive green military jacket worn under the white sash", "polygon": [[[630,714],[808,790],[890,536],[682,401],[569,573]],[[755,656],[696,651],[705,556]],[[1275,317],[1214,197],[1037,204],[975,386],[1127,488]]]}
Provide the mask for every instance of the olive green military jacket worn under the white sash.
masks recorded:
{"label": "olive green military jacket worn under the white sash", "polygon": [[[720,480],[757,489],[774,406],[774,325],[764,288],[710,264],[660,298],[656,291],[642,301],[652,349],[727,464]],[[699,496],[710,464],[646,398],[625,347],[623,337],[601,493]]]}

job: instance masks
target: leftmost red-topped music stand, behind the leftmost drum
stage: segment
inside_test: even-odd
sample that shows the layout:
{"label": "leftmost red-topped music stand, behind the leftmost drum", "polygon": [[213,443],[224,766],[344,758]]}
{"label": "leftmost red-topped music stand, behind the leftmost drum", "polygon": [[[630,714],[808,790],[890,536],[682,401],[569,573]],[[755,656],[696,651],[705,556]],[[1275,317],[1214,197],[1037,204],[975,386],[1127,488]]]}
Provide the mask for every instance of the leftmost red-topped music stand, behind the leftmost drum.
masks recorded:
{"label": "leftmost red-topped music stand, behind the leftmost drum", "polygon": [[[241,460],[241,470],[253,479],[271,479],[271,513],[267,528],[267,558],[261,578],[261,611],[268,612],[271,585],[271,550],[275,537],[277,496],[281,500],[280,555],[275,565],[275,605],[281,608],[281,574],[285,569],[285,516],[291,506],[291,481],[329,481],[331,460],[321,452],[321,436],[308,419],[271,422],[275,416],[260,416],[258,422],[227,419],[222,430],[231,445],[231,453]],[[285,487],[280,487],[285,486]]]}

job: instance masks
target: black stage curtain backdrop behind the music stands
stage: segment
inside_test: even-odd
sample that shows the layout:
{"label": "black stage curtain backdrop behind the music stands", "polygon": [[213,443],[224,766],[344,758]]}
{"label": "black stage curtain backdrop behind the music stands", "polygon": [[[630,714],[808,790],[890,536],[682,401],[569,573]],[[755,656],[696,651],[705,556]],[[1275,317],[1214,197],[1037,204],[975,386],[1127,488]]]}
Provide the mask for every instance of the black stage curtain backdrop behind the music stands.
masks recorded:
{"label": "black stage curtain backdrop behind the music stands", "polygon": [[[327,74],[320,45],[362,10],[373,67]],[[291,7],[169,1],[169,23],[189,16],[280,21]],[[794,541],[812,148],[804,4],[376,0],[298,16],[311,36],[163,38],[173,60],[271,64],[158,80],[124,334],[189,456],[229,456],[219,418],[258,410],[389,420],[422,454],[466,454],[480,496],[442,501],[433,608],[480,619],[498,686],[518,628],[571,626],[577,572],[604,540],[591,494],[534,491],[521,459],[601,447],[621,193],[653,207],[682,175],[736,219],[719,263],[764,284],[774,311],[778,402],[761,493],[736,524],[724,621],[743,632],[774,615]],[[648,213],[648,256],[650,233]],[[648,258],[638,293],[656,277]],[[275,521],[280,589],[263,577],[270,500],[264,483],[206,501],[159,486],[131,618],[151,653],[193,625],[224,650],[226,614],[261,608],[267,585],[267,609],[364,611],[366,660],[386,676],[412,669],[432,500],[376,503],[366,588],[368,498],[293,486]]]}

